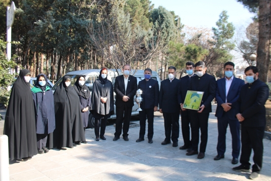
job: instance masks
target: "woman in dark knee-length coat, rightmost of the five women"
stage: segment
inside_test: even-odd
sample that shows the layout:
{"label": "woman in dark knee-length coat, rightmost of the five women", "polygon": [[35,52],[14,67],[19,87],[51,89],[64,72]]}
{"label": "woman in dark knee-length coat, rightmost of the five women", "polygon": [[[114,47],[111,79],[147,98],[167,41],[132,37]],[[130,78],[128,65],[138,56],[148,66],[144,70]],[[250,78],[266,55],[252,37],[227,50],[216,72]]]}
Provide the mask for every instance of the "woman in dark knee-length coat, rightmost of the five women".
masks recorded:
{"label": "woman in dark knee-length coat, rightmost of the five women", "polygon": [[[114,114],[113,84],[107,80],[107,69],[102,68],[99,78],[93,83],[90,111],[95,118],[96,141],[106,140],[104,132],[107,118]],[[101,120],[101,133],[99,138],[99,124]]]}

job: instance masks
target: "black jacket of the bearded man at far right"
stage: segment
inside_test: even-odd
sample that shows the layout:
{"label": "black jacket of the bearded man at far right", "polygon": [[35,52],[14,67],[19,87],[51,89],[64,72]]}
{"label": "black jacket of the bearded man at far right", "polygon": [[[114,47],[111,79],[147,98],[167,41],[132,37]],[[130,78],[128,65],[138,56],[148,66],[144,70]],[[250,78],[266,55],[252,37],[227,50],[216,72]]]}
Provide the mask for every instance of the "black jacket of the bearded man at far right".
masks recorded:
{"label": "black jacket of the bearded man at far right", "polygon": [[265,104],[269,97],[269,87],[257,79],[253,83],[241,87],[236,103],[236,114],[241,113],[244,120],[242,126],[262,127],[266,125]]}

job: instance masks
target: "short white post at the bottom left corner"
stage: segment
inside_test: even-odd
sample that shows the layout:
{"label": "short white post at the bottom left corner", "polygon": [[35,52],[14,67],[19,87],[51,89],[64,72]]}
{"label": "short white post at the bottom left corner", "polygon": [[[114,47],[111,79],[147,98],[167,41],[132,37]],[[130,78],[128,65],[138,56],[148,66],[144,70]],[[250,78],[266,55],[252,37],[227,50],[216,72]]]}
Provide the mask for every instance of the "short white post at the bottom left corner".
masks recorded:
{"label": "short white post at the bottom left corner", "polygon": [[8,137],[0,135],[0,181],[9,181]]}

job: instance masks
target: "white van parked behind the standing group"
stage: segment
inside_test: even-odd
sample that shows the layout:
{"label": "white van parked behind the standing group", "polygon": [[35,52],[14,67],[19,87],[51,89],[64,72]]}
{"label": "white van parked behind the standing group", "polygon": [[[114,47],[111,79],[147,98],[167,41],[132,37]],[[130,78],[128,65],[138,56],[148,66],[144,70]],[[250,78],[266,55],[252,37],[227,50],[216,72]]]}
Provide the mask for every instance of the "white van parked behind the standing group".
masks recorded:
{"label": "white van parked behind the standing group", "polygon": [[[100,69],[73,71],[73,72],[68,72],[66,75],[68,75],[68,76],[71,77],[71,85],[73,85],[76,82],[76,79],[77,79],[78,75],[84,75],[86,77],[85,84],[86,84],[86,86],[88,86],[89,90],[92,91],[92,89],[93,89],[93,83],[94,83],[94,81],[96,79],[98,79],[100,71],[101,71]],[[113,83],[113,86],[114,86],[116,77],[119,75],[118,72],[119,72],[120,75],[122,74],[122,71],[120,69],[118,69],[117,71],[116,71],[116,69],[108,69],[107,79],[110,80]],[[131,75],[134,75],[136,77],[137,83],[140,80],[144,79],[144,71],[143,70],[132,70],[131,71]],[[159,78],[158,73],[155,72],[155,71],[152,71],[151,78],[157,80],[158,84],[159,84],[159,87],[160,87],[161,80]],[[55,83],[55,85],[52,88],[53,92],[56,90],[56,88],[62,82],[62,79],[63,79],[63,77],[61,79],[59,79],[57,81],[57,83]],[[115,101],[115,97],[116,97],[116,94],[114,92],[114,101]],[[134,101],[134,107],[132,109],[132,115],[138,115],[139,114],[138,111],[135,110],[137,108],[138,108],[138,105]],[[108,119],[114,119],[114,118],[116,118],[116,107],[115,107],[115,104],[114,104],[114,112],[115,112],[115,114],[111,115],[111,117],[108,118]],[[94,117],[92,116],[91,113],[89,114],[88,128],[94,128]]]}

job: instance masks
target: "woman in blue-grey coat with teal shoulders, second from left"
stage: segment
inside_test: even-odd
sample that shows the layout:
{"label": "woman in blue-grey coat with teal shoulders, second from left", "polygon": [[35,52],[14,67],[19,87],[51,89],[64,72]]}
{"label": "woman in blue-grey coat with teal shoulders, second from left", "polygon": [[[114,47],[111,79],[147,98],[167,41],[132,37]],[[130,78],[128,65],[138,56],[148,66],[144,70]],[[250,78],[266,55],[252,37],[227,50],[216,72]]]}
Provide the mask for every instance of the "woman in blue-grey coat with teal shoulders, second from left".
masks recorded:
{"label": "woman in blue-grey coat with teal shoulders, second from left", "polygon": [[31,89],[36,118],[36,139],[37,152],[39,154],[47,153],[53,148],[52,134],[49,136],[48,147],[46,148],[47,137],[55,130],[55,106],[54,95],[49,86],[47,86],[47,76],[39,74],[36,78],[35,86]]}

